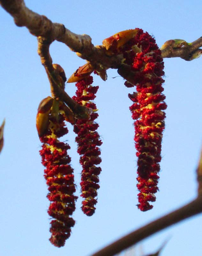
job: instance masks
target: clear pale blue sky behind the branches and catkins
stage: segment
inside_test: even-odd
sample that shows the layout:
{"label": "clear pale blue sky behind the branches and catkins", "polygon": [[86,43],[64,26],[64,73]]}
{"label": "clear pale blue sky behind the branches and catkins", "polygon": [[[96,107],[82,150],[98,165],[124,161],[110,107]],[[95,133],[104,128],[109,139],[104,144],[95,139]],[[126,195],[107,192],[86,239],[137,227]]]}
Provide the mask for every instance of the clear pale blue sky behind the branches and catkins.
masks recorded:
{"label": "clear pale blue sky behind the branches and catkins", "polygon": [[[53,22],[63,23],[77,34],[88,34],[94,45],[125,29],[139,27],[153,34],[161,46],[169,39],[192,42],[201,36],[201,1],[64,1],[26,0],[26,5]],[[106,82],[94,78],[100,88],[95,99],[99,108],[102,173],[94,216],[80,210],[76,225],[63,248],[49,243],[49,201],[38,153],[40,141],[35,118],[41,99],[50,95],[49,82],[37,54],[36,37],[17,27],[0,8],[0,122],[6,119],[5,145],[0,155],[0,255],[4,256],[88,256],[102,246],[151,220],[182,206],[197,195],[196,167],[202,142],[201,68],[202,57],[191,62],[165,59],[166,128],[157,200],[151,211],[137,207],[136,156],[131,101],[116,70],[108,70]],[[200,24],[200,25],[199,25]],[[54,63],[69,77],[85,61],[62,43],[50,48]],[[73,96],[76,87],[67,84]],[[81,166],[69,125],[69,154],[78,185]],[[202,215],[144,240],[136,247],[154,252],[170,237],[163,256],[201,256]],[[134,254],[131,254],[134,256]],[[136,254],[136,256],[139,256]]]}

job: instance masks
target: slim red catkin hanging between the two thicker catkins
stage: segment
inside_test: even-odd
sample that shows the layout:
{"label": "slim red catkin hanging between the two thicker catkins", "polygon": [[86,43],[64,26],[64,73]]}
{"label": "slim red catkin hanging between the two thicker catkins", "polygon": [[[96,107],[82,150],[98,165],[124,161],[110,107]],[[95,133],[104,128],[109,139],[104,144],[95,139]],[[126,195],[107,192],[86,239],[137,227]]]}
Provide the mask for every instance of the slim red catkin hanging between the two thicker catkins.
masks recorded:
{"label": "slim red catkin hanging between the two thicker catkins", "polygon": [[98,175],[101,172],[101,167],[96,167],[96,165],[101,163],[101,158],[99,157],[101,152],[98,146],[102,142],[99,134],[96,132],[99,125],[94,120],[98,117],[98,114],[96,113],[96,105],[92,102],[96,97],[95,94],[99,86],[92,86],[92,83],[92,76],[77,82],[76,96],[72,97],[79,104],[93,109],[90,120],[77,120],[74,125],[74,132],[77,134],[75,139],[78,145],[77,152],[81,155],[80,164],[83,168],[80,185],[81,197],[84,200],[81,209],[87,216],[93,215],[96,209],[97,190],[100,188]]}

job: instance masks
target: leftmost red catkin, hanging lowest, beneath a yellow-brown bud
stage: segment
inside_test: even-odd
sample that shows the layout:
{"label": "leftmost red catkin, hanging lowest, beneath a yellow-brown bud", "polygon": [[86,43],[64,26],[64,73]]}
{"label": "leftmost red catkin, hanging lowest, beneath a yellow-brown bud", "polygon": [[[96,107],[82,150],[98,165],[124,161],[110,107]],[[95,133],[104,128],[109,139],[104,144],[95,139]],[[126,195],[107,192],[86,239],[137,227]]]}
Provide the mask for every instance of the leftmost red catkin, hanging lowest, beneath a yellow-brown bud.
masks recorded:
{"label": "leftmost red catkin, hanging lowest, beneath a yellow-brown bud", "polygon": [[57,100],[54,99],[52,107],[46,109],[43,121],[47,117],[47,129],[40,136],[43,143],[40,155],[42,164],[46,167],[44,177],[49,186],[47,198],[51,203],[48,213],[54,219],[50,222],[52,235],[49,240],[55,246],[61,247],[64,246],[65,240],[70,237],[71,227],[75,224],[70,215],[75,210],[77,197],[73,195],[75,192],[74,175],[70,166],[71,158],[67,154],[70,146],[58,140],[59,137],[67,134],[68,130],[64,124],[64,113],[60,110]]}

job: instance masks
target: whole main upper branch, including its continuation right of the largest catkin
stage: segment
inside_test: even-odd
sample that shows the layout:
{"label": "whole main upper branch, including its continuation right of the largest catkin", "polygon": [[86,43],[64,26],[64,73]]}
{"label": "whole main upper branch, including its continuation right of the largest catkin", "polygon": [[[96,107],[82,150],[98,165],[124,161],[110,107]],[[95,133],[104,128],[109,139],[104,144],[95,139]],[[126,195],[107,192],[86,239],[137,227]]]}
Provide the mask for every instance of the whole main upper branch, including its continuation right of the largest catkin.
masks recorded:
{"label": "whole main upper branch, including its continuation right of the largest catkin", "polygon": [[[92,66],[101,65],[103,68],[108,69],[118,68],[121,64],[122,56],[107,56],[105,47],[102,45],[94,46],[89,35],[77,35],[65,28],[63,24],[53,23],[46,16],[39,15],[28,9],[24,0],[0,0],[0,4],[11,14],[17,26],[25,26],[32,35],[45,37],[51,42],[57,40],[66,44],[80,58],[90,62]],[[202,37],[194,41],[191,46],[183,46],[182,48],[168,46],[162,50],[162,57],[180,57],[190,61],[200,56],[198,56],[197,51],[199,47],[202,47]],[[202,54],[202,50],[200,54]]]}

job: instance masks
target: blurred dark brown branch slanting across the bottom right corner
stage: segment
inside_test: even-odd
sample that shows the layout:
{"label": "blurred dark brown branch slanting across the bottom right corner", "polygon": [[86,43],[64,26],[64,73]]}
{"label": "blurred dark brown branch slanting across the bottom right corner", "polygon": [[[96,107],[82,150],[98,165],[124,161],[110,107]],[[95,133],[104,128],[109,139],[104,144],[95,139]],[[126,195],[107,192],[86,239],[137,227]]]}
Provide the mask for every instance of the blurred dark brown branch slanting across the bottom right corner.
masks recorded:
{"label": "blurred dark brown branch slanting across the bottom right corner", "polygon": [[167,215],[153,221],[146,226],[133,231],[132,233],[120,238],[116,242],[109,244],[100,251],[92,254],[91,256],[113,256],[118,252],[125,250],[126,248],[138,243],[157,233],[158,231],[165,229],[179,221],[187,219],[202,212],[202,196],[198,197],[191,203],[177,209],[174,212],[168,213]]}

